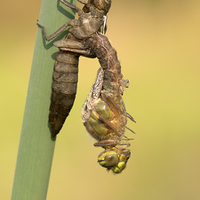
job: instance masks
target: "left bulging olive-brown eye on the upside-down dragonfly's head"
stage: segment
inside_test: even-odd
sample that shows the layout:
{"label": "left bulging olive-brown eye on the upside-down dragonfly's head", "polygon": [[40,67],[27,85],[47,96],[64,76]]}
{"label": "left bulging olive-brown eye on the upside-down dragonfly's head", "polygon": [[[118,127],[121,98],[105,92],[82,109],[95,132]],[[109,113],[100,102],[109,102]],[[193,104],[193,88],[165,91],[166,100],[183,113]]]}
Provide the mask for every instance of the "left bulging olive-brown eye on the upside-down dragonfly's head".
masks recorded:
{"label": "left bulging olive-brown eye on the upside-down dragonfly's head", "polygon": [[102,167],[113,167],[118,164],[119,158],[116,152],[102,152],[98,157],[98,162]]}

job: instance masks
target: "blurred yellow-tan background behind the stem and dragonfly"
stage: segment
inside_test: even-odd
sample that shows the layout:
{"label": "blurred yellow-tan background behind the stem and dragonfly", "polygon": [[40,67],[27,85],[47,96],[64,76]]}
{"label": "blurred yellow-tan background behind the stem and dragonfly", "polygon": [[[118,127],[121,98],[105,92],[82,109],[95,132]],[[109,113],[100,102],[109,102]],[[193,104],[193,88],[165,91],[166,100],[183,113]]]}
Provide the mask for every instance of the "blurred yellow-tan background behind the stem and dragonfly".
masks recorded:
{"label": "blurred yellow-tan background behind the stem and dragonfly", "polygon": [[[11,196],[40,5],[0,2],[1,199]],[[75,105],[56,142],[48,200],[199,199],[199,22],[198,0],[113,0],[107,36],[130,81],[123,99],[137,121],[128,123],[136,132],[127,131],[135,138],[132,156],[119,175],[96,162],[102,149],[87,138],[80,109],[99,63],[81,58]]]}

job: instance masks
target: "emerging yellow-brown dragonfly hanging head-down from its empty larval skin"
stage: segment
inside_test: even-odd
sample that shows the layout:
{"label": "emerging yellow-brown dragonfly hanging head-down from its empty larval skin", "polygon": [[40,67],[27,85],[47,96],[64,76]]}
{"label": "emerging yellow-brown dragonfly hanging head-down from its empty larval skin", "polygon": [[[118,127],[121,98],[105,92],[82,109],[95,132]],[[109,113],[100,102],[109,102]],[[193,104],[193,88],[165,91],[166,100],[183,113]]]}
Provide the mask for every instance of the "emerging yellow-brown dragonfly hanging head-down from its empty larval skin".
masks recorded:
{"label": "emerging yellow-brown dragonfly hanging head-down from its empty larval skin", "polygon": [[86,43],[99,59],[101,68],[82,107],[82,121],[97,140],[94,146],[104,149],[98,156],[98,163],[118,174],[125,169],[131,156],[128,149],[131,139],[124,133],[126,128],[129,129],[127,118],[135,120],[126,112],[122,99],[129,81],[123,79],[117,52],[106,36],[95,33]]}

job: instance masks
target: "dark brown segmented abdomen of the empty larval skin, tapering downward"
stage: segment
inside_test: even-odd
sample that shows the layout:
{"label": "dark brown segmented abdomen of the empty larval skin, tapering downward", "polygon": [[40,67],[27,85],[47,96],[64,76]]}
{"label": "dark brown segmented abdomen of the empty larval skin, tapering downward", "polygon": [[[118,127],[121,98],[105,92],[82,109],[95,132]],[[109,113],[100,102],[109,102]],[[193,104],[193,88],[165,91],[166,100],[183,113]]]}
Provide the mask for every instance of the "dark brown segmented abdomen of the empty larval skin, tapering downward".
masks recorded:
{"label": "dark brown segmented abdomen of the empty larval skin, tapering downward", "polygon": [[59,133],[74,104],[78,82],[79,55],[60,51],[55,60],[49,109],[52,137]]}

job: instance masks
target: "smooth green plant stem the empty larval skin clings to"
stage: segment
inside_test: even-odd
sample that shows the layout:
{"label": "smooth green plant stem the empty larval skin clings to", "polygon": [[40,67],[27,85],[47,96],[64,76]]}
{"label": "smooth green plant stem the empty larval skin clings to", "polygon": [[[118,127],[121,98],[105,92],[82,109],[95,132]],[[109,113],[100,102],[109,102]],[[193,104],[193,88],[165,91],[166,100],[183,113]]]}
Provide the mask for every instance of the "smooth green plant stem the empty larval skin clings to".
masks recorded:
{"label": "smooth green plant stem the empty larval skin clings to", "polygon": [[[71,1],[73,4],[76,2]],[[45,26],[47,34],[73,18],[74,11],[60,2],[42,1],[39,23]],[[66,32],[56,40],[64,35]],[[38,28],[11,200],[46,199],[55,146],[48,125],[48,113],[57,51],[53,41],[47,43]]]}

